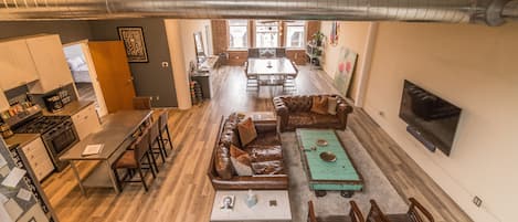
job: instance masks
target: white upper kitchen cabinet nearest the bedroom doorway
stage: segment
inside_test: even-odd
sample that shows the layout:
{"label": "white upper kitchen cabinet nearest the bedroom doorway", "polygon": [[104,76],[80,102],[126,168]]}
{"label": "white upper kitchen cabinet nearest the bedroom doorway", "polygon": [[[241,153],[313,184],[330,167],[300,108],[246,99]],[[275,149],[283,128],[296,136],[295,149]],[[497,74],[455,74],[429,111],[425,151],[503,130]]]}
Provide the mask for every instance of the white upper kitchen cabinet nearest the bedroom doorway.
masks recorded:
{"label": "white upper kitchen cabinet nearest the bedroom doorway", "polygon": [[31,93],[42,94],[73,82],[57,34],[27,39],[39,81],[28,84]]}

